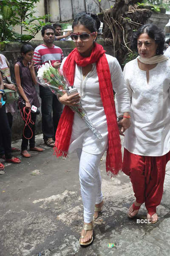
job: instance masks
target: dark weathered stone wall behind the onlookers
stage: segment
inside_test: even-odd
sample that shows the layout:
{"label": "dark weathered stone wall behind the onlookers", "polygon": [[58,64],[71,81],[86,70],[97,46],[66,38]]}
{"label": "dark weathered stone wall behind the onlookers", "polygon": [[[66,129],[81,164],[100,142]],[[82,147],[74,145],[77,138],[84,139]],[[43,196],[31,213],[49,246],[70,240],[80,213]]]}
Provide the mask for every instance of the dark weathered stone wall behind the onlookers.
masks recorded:
{"label": "dark weathered stone wall behind the onlookers", "polygon": [[[109,47],[105,45],[104,40],[98,40],[99,44],[102,44],[104,49],[106,50],[106,53],[113,55],[113,49],[112,47]],[[42,44],[43,41],[31,41],[29,44],[31,44],[34,48],[38,45]],[[54,42],[55,45],[60,47],[63,51],[64,56],[67,56],[72,49],[74,49],[74,42],[72,41],[57,41]],[[2,53],[6,56],[10,63],[10,70],[11,70],[11,79],[12,81],[15,81],[14,79],[14,64],[17,62],[17,58],[20,56],[20,43],[10,43],[6,45],[6,49]],[[36,86],[36,90],[39,94],[39,86]],[[41,99],[39,97],[39,100],[41,102]],[[18,110],[17,113],[14,115],[13,119],[13,125],[12,125],[12,140],[17,140],[22,137],[23,132],[23,120],[20,117],[20,111]],[[41,129],[41,113],[37,116],[37,122],[36,122],[36,134],[42,133]]]}

